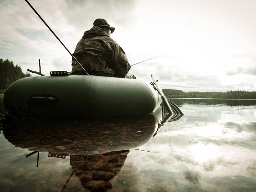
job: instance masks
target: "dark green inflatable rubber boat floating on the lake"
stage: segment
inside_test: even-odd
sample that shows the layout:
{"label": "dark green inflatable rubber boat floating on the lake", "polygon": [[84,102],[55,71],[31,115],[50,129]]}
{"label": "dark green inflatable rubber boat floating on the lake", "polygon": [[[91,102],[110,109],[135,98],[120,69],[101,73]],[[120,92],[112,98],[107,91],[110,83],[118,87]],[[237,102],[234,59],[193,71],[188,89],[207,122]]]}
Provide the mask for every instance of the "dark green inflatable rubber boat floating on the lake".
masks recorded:
{"label": "dark green inflatable rubber boat floating on the lake", "polygon": [[5,91],[4,107],[19,119],[153,114],[162,102],[153,85],[100,76],[26,77]]}

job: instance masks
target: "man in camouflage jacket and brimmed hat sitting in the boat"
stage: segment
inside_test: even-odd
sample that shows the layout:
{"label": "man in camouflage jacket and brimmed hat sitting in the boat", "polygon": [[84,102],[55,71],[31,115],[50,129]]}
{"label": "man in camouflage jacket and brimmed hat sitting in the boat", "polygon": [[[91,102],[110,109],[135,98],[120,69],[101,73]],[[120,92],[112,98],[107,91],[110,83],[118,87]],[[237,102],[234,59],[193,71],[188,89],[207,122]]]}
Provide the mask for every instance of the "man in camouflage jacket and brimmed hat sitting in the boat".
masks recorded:
{"label": "man in camouflage jacket and brimmed hat sitting in the boat", "polygon": [[[114,30],[105,19],[96,19],[93,28],[84,32],[73,55],[89,75],[136,79],[128,73],[131,66],[123,49],[110,37]],[[72,66],[71,75],[85,74],[74,59]]]}

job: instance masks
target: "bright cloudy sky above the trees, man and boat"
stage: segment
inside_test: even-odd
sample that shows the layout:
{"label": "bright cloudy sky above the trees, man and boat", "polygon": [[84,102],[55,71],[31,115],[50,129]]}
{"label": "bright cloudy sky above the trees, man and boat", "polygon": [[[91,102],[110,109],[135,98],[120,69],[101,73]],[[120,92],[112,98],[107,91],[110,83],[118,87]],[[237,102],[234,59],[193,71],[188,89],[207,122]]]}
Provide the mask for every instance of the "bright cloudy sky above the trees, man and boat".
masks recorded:
{"label": "bright cloudy sky above the trees, man and boat", "polygon": [[[104,18],[137,79],[184,92],[256,91],[255,0],[29,0],[73,53]],[[49,75],[71,55],[24,0],[0,0],[0,58]],[[156,57],[157,56],[157,57]],[[155,58],[153,58],[155,57]],[[32,74],[32,76],[38,76]]]}

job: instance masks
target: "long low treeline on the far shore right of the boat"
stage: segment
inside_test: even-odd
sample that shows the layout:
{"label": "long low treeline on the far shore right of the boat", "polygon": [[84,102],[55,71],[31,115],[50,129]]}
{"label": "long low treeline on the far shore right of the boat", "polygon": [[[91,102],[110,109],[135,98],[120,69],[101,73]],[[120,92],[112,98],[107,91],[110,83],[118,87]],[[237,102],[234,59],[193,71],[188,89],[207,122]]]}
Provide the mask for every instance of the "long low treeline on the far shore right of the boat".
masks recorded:
{"label": "long low treeline on the far shore right of the boat", "polygon": [[184,92],[172,89],[163,89],[162,91],[167,98],[256,99],[255,91]]}

